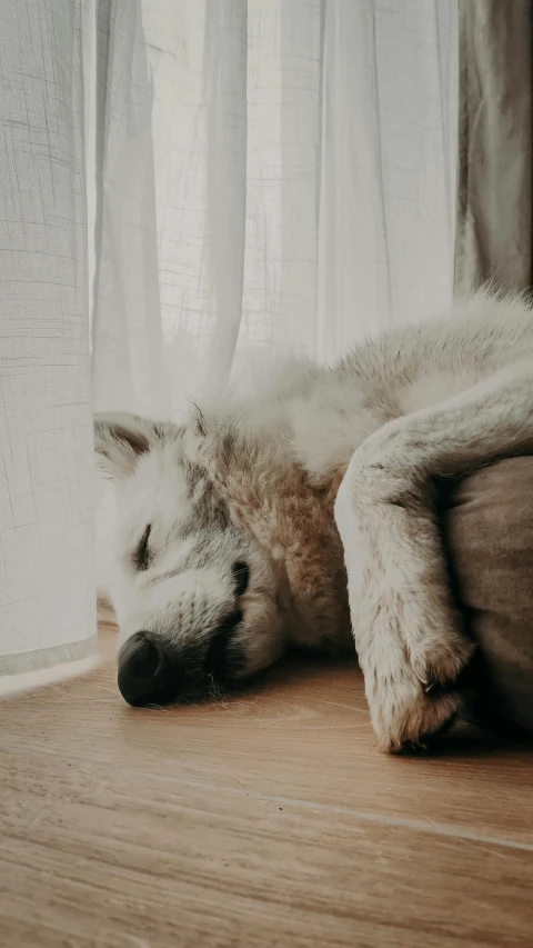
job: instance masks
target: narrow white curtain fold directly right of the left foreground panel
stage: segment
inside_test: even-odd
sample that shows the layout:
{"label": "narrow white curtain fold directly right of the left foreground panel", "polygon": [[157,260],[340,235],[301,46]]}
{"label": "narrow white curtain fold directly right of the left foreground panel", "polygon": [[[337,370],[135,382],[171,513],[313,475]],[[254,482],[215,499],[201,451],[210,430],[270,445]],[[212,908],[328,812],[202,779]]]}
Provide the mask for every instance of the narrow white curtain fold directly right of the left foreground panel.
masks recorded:
{"label": "narrow white curtain fold directly right of the left foreground panel", "polygon": [[92,392],[95,410],[159,417],[168,405],[142,12],[141,0],[98,0]]}

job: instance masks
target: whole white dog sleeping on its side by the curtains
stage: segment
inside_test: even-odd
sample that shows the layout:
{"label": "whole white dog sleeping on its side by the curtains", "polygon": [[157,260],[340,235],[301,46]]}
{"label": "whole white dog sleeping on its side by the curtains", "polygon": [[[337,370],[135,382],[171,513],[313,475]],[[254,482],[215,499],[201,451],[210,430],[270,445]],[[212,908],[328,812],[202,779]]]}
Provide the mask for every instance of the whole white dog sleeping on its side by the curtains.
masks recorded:
{"label": "whole white dog sleeping on its side by the curtains", "polygon": [[472,650],[434,480],[533,448],[533,311],[479,293],[187,426],[99,417],[95,445],[127,701],[234,687],[352,631],[380,746],[422,745],[460,710]]}

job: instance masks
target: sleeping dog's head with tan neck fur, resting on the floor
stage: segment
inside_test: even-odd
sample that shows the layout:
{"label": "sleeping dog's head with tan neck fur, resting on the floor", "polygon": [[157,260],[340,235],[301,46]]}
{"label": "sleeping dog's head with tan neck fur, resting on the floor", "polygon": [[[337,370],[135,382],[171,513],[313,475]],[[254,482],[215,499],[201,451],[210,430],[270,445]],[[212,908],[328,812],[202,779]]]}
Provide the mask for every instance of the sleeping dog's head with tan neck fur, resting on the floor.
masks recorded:
{"label": "sleeping dog's head with tan neck fur, resting on the floor", "polygon": [[344,640],[331,498],[308,483],[283,432],[201,415],[188,426],[99,416],[94,430],[115,485],[109,592],[127,701],[204,697],[290,641]]}

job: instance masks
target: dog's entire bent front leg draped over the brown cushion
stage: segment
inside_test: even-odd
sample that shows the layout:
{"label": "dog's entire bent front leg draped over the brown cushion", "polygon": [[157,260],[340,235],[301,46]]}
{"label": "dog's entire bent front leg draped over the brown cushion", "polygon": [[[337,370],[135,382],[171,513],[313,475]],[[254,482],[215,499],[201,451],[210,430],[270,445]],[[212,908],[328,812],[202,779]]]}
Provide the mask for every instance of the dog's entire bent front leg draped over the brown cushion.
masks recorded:
{"label": "dog's entire bent front leg draped over the brown cushion", "polygon": [[372,724],[388,750],[423,745],[452,719],[453,681],[472,650],[449,590],[432,478],[531,448],[526,363],[389,422],[352,457],[335,520]]}

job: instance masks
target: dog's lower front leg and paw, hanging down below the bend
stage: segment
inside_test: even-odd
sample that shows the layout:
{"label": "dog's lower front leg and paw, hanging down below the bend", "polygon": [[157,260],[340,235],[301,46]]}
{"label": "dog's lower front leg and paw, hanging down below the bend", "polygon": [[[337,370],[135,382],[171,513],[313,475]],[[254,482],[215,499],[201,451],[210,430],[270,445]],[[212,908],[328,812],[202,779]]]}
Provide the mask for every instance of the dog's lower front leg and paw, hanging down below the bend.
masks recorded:
{"label": "dog's lower front leg and paw, hanging down below the bend", "polygon": [[430,509],[358,452],[340,487],[350,612],[372,725],[383,749],[423,745],[460,708],[453,680],[471,653],[449,595]]}

